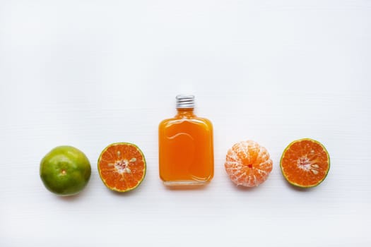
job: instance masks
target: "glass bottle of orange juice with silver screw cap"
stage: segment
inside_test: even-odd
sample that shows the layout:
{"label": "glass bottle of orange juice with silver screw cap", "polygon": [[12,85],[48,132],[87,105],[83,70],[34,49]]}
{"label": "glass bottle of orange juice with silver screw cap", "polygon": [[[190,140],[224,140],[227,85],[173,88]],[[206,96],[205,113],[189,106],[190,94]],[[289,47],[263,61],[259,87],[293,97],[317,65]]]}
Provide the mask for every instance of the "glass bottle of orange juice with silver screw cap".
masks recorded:
{"label": "glass bottle of orange juice with silver screw cap", "polygon": [[178,95],[177,114],[158,128],[160,178],[166,186],[204,185],[213,179],[213,126],[194,114],[194,96]]}

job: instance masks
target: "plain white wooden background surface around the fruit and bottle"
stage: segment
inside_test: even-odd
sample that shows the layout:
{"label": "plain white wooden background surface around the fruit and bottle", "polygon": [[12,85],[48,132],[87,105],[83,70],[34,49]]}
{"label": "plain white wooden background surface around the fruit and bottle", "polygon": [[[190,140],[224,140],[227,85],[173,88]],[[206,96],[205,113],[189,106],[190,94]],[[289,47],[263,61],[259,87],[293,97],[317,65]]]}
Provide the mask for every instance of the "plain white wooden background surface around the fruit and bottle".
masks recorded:
{"label": "plain white wooden background surface around the fruit and bottle", "polygon": [[[371,1],[0,1],[0,246],[370,246]],[[173,191],[158,177],[158,123],[175,95],[211,119],[215,176]],[[292,140],[329,150],[329,176],[298,190]],[[273,159],[261,186],[225,174],[233,143]],[[131,142],[148,171],[109,191],[97,159]],[[40,159],[73,145],[92,176],[49,193]]]}

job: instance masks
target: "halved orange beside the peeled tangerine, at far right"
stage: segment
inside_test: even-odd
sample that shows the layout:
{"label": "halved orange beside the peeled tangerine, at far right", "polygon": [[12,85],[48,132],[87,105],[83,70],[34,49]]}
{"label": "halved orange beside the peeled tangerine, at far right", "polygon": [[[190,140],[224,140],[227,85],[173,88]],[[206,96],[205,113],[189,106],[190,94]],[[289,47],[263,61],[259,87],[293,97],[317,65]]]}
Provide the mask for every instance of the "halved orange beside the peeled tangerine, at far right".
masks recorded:
{"label": "halved orange beside the peeled tangerine, at far right", "polygon": [[319,185],[330,169],[330,157],[317,140],[294,140],[283,151],[281,171],[293,186],[308,188]]}

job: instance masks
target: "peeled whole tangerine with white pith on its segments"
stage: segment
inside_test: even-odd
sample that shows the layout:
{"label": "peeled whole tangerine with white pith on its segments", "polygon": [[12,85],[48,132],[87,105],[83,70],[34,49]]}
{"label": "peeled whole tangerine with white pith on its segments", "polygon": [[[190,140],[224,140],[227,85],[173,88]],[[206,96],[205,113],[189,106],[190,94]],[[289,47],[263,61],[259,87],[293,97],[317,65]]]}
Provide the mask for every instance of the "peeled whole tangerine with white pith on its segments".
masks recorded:
{"label": "peeled whole tangerine with white pith on its segments", "polygon": [[224,166],[237,186],[253,187],[266,181],[273,162],[265,147],[253,140],[246,140],[236,143],[228,150]]}

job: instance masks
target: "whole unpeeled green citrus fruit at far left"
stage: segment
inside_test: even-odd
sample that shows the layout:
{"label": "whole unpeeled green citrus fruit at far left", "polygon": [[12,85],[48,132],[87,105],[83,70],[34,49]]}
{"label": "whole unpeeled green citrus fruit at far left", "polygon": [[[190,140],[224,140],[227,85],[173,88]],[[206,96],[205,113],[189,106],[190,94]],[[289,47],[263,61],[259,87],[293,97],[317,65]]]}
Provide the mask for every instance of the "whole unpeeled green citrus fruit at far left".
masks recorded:
{"label": "whole unpeeled green citrus fruit at far left", "polygon": [[45,187],[57,195],[76,195],[90,179],[86,155],[76,147],[54,147],[40,162],[40,177]]}

